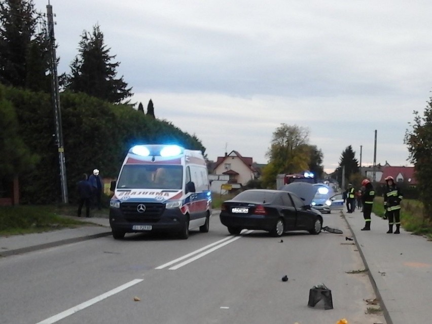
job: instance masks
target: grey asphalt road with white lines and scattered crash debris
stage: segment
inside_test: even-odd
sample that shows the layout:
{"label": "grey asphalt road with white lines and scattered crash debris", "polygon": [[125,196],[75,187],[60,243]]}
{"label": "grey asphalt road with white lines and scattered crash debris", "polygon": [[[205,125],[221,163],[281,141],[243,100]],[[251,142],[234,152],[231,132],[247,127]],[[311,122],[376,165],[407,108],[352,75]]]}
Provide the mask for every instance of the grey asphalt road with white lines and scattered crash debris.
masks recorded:
{"label": "grey asphalt road with white lines and scattered crash debris", "polygon": [[[324,218],[344,234],[232,236],[214,214],[188,240],[103,237],[0,259],[0,323],[385,323],[366,314],[368,276],[347,273],[365,266],[345,221]],[[307,306],[319,283],[334,309]]]}

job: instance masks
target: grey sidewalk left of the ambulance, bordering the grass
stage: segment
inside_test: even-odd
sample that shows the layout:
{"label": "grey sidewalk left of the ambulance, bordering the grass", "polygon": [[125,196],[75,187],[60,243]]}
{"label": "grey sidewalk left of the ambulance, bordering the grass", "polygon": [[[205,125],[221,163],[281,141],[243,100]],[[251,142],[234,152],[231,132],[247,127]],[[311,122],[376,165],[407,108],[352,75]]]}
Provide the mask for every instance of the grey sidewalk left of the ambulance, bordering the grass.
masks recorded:
{"label": "grey sidewalk left of the ambulance, bordering the grass", "polygon": [[107,217],[74,217],[74,219],[95,225],[43,233],[0,236],[0,258],[111,235],[110,221]]}

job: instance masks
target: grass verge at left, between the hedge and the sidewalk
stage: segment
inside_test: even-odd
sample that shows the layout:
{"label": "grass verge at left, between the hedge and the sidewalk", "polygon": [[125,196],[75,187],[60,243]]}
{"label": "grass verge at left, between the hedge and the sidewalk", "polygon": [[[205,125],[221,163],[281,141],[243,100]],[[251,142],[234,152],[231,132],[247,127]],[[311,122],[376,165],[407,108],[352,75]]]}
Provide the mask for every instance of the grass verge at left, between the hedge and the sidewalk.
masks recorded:
{"label": "grass verge at left, between the hedge and the sidewalk", "polygon": [[65,217],[75,215],[73,212],[75,209],[71,205],[0,207],[0,235],[41,233],[55,229],[82,226],[82,221]]}

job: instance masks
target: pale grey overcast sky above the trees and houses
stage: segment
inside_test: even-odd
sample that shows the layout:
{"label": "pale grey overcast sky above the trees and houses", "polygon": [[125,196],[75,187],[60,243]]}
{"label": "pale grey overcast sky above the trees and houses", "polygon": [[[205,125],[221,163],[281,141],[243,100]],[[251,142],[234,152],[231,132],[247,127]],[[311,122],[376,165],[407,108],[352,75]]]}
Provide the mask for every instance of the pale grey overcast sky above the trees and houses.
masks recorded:
{"label": "pale grey overcast sky above the trees and houses", "polygon": [[[432,87],[427,0],[51,0],[58,73],[98,23],[133,102],[201,139],[210,160],[267,163],[281,123],[309,129],[328,172],[410,165],[404,134]],[[48,0],[34,0],[46,12]],[[66,152],[67,154],[67,152]]]}

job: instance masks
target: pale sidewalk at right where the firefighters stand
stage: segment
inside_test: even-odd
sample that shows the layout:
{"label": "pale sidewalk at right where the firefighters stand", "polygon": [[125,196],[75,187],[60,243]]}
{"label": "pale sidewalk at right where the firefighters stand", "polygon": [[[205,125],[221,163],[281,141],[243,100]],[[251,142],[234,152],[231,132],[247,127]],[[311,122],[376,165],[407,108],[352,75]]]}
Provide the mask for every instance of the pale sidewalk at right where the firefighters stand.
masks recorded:
{"label": "pale sidewalk at right where the firefighters stand", "polygon": [[402,228],[399,235],[386,234],[388,221],[374,214],[371,231],[361,231],[363,214],[358,209],[344,214],[387,324],[432,322],[432,242]]}

